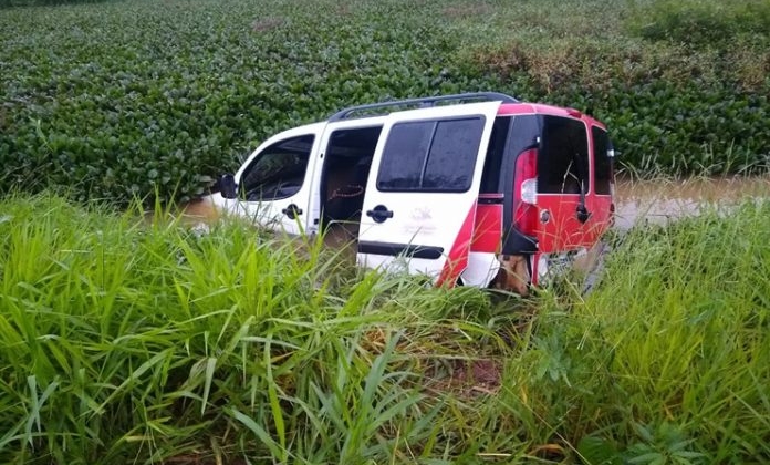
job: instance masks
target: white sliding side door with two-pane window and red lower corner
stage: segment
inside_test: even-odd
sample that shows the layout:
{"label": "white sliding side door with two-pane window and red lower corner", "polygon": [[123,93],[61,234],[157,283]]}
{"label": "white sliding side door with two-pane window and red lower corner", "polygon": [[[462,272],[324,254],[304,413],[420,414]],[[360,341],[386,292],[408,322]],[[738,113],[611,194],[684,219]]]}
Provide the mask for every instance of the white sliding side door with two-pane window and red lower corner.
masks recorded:
{"label": "white sliding side door with two-pane window and red lower corner", "polygon": [[485,154],[500,102],[393,113],[372,163],[360,265],[441,283],[468,262]]}

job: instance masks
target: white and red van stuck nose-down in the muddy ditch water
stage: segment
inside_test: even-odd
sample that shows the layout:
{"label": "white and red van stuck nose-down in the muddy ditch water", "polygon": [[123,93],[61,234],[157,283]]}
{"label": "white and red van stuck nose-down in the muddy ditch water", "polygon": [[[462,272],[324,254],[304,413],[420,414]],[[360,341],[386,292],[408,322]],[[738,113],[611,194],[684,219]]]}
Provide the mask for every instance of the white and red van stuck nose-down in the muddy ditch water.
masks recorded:
{"label": "white and red van stuck nose-down in the muddy ditch water", "polygon": [[270,137],[211,200],[289,234],[343,228],[365,267],[526,292],[611,226],[613,156],[605,126],[576,110],[414,99]]}

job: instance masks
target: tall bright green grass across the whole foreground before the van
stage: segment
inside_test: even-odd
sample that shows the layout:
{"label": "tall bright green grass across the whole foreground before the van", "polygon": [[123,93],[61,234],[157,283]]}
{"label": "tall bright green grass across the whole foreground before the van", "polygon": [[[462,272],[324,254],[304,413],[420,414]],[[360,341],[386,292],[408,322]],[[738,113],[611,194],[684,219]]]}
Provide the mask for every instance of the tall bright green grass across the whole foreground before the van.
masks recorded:
{"label": "tall bright green grass across the whole foreground before the van", "polygon": [[769,210],[633,230],[590,296],[522,300],[9,197],[0,462],[767,461]]}

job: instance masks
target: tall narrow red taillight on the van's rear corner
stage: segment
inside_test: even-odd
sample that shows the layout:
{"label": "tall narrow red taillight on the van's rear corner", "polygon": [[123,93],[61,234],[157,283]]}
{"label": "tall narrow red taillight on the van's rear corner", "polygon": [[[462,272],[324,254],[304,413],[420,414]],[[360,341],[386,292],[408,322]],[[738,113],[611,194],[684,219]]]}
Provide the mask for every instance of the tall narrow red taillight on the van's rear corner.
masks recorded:
{"label": "tall narrow red taillight on the van's rear corner", "polygon": [[523,152],[516,161],[513,224],[520,232],[534,236],[538,228],[538,151]]}

